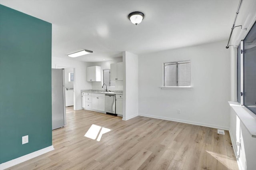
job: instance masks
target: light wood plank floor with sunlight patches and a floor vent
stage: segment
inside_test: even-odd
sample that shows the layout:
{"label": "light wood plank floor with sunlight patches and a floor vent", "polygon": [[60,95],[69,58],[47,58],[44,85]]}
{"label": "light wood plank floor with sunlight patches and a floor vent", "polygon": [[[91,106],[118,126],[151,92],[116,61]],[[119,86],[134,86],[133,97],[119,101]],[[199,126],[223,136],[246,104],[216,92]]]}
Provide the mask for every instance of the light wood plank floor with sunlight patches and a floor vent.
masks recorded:
{"label": "light wood plank floor with sunlight patches and a floor vent", "polygon": [[[95,134],[94,125],[100,126]],[[98,131],[108,129],[100,138]],[[95,140],[84,136],[88,130]],[[55,150],[10,169],[238,170],[228,131],[185,123],[140,116],[122,121],[68,107],[66,127],[53,130],[52,138]]]}

